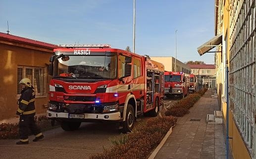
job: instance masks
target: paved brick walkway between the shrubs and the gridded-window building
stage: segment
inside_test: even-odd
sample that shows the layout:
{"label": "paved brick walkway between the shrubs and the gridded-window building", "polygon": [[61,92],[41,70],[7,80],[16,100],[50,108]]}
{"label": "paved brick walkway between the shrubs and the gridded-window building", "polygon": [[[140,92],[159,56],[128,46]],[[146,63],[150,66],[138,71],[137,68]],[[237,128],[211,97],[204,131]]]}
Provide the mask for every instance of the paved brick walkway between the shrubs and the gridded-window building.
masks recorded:
{"label": "paved brick walkway between the shrubs and the gridded-window building", "polygon": [[190,114],[178,119],[176,126],[172,128],[172,133],[154,159],[226,158],[222,124],[206,122],[207,114],[214,114],[214,110],[219,110],[217,98],[211,95],[212,90],[207,90],[205,95],[190,108]]}

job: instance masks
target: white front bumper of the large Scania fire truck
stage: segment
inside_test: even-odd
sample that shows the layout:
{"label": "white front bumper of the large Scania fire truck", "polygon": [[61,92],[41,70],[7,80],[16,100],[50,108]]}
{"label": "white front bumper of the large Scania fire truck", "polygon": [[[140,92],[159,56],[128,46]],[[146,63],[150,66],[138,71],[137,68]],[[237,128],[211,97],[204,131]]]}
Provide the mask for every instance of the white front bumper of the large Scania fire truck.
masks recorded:
{"label": "white front bumper of the large Scania fire truck", "polygon": [[74,114],[70,114],[67,112],[53,112],[47,110],[47,117],[50,119],[76,119],[76,120],[104,120],[104,121],[119,121],[121,120],[121,114],[120,112],[114,112],[114,113],[106,113],[106,114],[89,114],[89,113],[81,113],[79,115],[79,118],[76,118]]}

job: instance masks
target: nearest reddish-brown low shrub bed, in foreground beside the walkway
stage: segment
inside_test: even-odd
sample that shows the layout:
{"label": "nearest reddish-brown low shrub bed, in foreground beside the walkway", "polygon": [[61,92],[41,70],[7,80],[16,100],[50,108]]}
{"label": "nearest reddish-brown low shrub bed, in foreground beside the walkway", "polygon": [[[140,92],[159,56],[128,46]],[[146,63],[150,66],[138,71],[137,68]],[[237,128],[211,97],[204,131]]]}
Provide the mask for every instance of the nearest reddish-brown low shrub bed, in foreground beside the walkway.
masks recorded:
{"label": "nearest reddish-brown low shrub bed, in foreground beside the walkway", "polygon": [[[151,118],[135,127],[131,133],[124,134],[126,142],[114,143],[109,150],[92,155],[91,159],[146,159],[176,122],[177,118],[172,116]],[[122,138],[124,137],[121,136],[121,140]]]}

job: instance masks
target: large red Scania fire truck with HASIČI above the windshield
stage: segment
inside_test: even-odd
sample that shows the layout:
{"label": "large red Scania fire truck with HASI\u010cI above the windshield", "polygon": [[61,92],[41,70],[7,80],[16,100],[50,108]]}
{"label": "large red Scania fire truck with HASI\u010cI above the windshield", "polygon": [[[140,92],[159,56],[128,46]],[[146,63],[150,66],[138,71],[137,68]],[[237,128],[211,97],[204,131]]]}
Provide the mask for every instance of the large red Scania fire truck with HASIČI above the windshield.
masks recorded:
{"label": "large red Scania fire truck with HASI\u010cI above the windshield", "polygon": [[107,121],[129,132],[139,115],[157,116],[164,96],[163,64],[107,44],[60,44],[53,52],[47,113],[62,129]]}

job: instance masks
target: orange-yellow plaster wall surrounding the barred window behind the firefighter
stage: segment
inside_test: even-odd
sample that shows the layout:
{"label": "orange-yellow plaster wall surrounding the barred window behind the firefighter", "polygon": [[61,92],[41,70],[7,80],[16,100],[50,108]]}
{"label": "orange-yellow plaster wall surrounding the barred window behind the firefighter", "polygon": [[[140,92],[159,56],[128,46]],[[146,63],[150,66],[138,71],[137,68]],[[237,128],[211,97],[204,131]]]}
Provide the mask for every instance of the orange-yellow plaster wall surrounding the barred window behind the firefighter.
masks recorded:
{"label": "orange-yellow plaster wall surrounding the barred window behind the firefighter", "polygon": [[0,120],[14,118],[18,108],[16,104],[18,65],[44,68],[45,95],[36,97],[35,105],[37,114],[46,113],[50,82],[47,64],[52,53],[0,44],[0,55]]}

